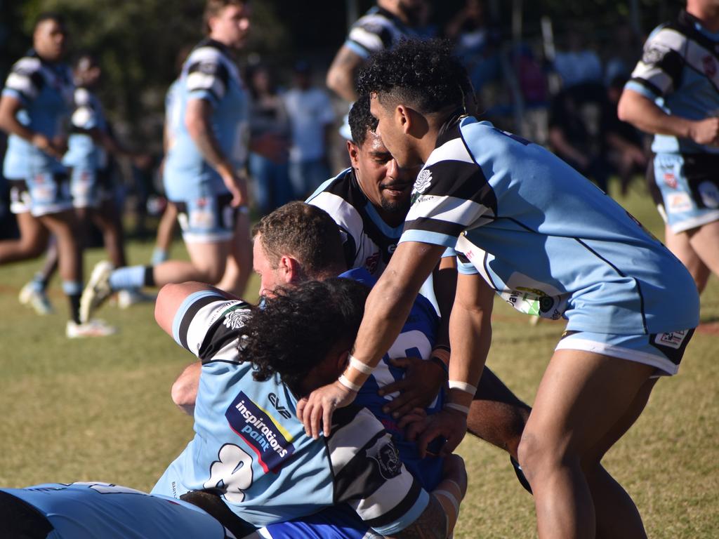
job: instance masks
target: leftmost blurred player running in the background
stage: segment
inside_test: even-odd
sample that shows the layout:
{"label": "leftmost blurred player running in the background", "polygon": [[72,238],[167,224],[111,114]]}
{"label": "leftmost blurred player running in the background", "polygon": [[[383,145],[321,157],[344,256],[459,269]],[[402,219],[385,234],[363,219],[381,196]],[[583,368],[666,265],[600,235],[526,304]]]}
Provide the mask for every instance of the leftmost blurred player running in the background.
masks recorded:
{"label": "leftmost blurred player running in the background", "polygon": [[9,134],[3,174],[20,239],[0,241],[0,264],[40,256],[50,234],[58,242],[63,292],[70,301],[68,337],[102,336],[101,325],[80,317],[82,252],[68,175],[62,164],[65,124],[73,111],[73,79],[63,63],[67,30],[62,16],[41,14],[32,49],[10,70],[0,98],[0,129]]}

